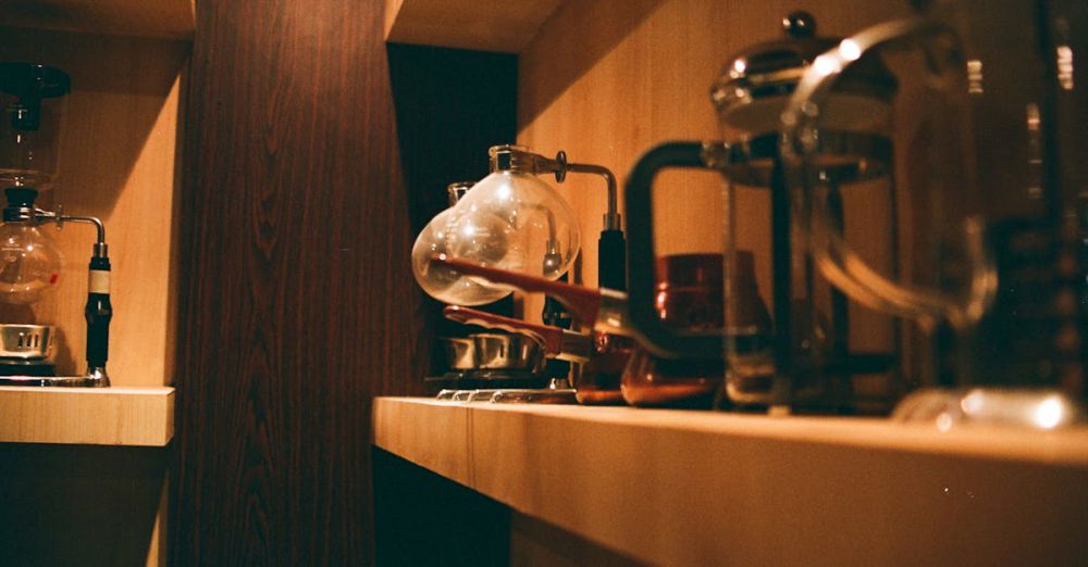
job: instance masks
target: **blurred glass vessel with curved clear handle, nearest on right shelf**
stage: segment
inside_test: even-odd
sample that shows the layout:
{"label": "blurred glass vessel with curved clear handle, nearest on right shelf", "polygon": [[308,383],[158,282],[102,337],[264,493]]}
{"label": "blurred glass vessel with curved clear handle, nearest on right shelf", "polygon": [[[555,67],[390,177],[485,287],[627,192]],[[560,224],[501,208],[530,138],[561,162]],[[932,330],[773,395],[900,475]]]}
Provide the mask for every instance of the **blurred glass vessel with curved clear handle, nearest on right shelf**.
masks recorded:
{"label": "blurred glass vessel with curved clear handle, nearest on right shelf", "polygon": [[[821,55],[783,115],[783,153],[818,269],[851,297],[928,331],[929,388],[895,415],[1049,429],[1084,419],[1088,312],[1088,97],[1074,66],[1083,2],[915,2]],[[981,14],[985,14],[981,15]],[[914,58],[926,86],[912,151],[897,155],[929,223],[911,236],[936,268],[904,281],[857,257],[828,220],[812,141],[864,58]],[[910,67],[908,67],[910,68]],[[1079,403],[1078,403],[1079,401]]]}

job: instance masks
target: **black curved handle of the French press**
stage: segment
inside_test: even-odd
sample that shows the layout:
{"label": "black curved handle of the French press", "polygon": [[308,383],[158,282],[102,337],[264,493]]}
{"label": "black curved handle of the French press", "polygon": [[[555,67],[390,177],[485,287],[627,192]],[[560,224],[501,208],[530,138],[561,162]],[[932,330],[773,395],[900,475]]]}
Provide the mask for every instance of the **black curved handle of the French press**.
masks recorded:
{"label": "black curved handle of the French press", "polygon": [[721,358],[722,335],[687,332],[662,323],[655,306],[657,276],[654,270],[653,188],[657,173],[668,167],[708,169],[704,144],[671,141],[651,148],[627,177],[628,310],[643,345],[670,358]]}

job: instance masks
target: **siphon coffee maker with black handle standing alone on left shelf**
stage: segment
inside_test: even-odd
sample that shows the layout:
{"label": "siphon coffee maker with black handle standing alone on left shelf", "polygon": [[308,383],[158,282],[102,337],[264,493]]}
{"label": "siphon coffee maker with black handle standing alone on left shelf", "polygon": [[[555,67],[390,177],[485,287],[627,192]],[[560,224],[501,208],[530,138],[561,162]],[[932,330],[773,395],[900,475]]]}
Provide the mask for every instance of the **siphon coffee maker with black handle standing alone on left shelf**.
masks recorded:
{"label": "siphon coffee maker with black handle standing alone on left shelf", "polygon": [[106,227],[94,216],[74,216],[36,206],[39,191],[51,188],[57,174],[61,117],[71,80],[63,71],[30,63],[0,63],[0,187],[7,205],[0,226],[0,301],[29,304],[54,290],[61,255],[41,225],[87,223],[97,239],[89,265],[87,370],[57,377],[51,361],[57,329],[50,325],[0,325],[0,385],[110,385],[110,260]]}

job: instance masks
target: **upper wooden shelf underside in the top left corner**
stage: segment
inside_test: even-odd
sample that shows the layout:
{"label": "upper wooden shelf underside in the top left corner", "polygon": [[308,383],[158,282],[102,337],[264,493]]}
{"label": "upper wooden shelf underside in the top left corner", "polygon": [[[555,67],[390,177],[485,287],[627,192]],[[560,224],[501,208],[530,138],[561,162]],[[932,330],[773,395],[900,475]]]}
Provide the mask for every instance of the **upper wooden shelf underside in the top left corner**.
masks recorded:
{"label": "upper wooden shelf underside in the top left corner", "polygon": [[189,39],[194,0],[3,0],[0,26]]}

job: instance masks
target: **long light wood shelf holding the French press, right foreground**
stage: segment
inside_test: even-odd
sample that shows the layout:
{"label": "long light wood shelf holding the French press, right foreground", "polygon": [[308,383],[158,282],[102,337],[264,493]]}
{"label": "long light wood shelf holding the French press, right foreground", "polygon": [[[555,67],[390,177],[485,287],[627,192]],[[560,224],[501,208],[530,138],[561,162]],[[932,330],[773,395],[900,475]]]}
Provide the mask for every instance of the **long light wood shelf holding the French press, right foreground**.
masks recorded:
{"label": "long light wood shelf holding the French press, right foreground", "polygon": [[374,444],[650,564],[1088,554],[1088,429],[379,398]]}

